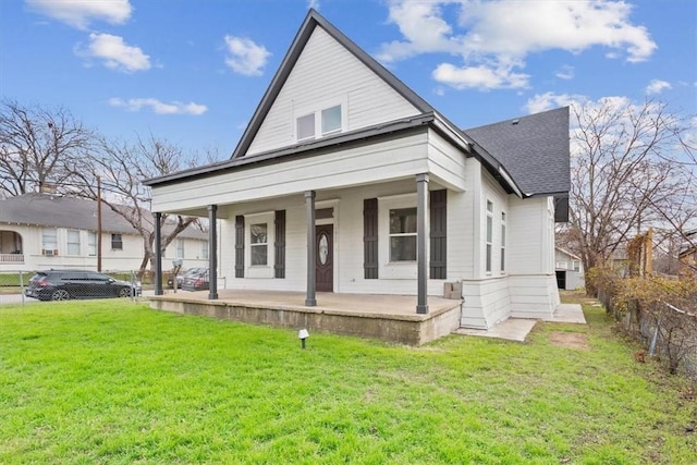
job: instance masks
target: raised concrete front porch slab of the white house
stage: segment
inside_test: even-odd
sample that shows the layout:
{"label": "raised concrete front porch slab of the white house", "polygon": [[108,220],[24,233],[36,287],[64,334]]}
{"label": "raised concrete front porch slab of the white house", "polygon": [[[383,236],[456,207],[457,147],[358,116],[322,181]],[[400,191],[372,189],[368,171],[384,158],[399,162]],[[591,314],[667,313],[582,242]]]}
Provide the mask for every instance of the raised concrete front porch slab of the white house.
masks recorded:
{"label": "raised concrete front porch slab of the white house", "polygon": [[220,290],[150,296],[150,307],[186,315],[269,325],[313,332],[375,338],[421,345],[460,327],[461,301],[429,297],[428,314],[416,314],[417,296],[317,293],[317,305],[305,305],[302,292]]}

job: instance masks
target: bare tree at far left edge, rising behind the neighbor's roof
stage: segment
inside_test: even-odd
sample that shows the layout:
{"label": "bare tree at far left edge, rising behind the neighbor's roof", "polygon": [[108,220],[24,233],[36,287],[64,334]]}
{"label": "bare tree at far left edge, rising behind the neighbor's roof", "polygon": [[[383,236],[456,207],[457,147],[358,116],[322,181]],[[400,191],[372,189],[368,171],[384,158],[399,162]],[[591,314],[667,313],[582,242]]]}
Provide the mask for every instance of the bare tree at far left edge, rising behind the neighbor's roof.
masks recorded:
{"label": "bare tree at far left edge, rising behind the neighbor's roof", "polygon": [[46,185],[58,189],[70,176],[65,164],[81,158],[94,133],[65,109],[0,102],[0,193],[16,196]]}

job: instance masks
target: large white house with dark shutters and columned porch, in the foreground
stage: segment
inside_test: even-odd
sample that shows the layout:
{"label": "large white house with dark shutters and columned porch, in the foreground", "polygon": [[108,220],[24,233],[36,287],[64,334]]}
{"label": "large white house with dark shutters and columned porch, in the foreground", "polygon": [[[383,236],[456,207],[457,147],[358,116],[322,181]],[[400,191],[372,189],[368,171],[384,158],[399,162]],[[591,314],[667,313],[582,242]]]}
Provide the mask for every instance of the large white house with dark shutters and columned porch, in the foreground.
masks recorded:
{"label": "large white house with dark shutters and columned porch, in the foreground", "polygon": [[560,302],[568,163],[567,108],[462,131],[310,10],[231,159],[146,184],[154,211],[218,221],[229,289],[415,295],[425,314],[461,284],[462,326],[488,328]]}

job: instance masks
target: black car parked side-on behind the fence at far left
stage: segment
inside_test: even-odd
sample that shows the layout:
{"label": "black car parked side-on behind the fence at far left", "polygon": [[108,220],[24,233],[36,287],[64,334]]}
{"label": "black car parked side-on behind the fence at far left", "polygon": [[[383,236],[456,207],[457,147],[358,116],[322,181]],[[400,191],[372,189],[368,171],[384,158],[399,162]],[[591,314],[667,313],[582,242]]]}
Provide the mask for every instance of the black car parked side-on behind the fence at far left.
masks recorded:
{"label": "black car parked side-on behind the fence at far left", "polygon": [[142,293],[139,282],[132,284],[88,270],[37,271],[24,292],[27,297],[39,301],[130,297]]}

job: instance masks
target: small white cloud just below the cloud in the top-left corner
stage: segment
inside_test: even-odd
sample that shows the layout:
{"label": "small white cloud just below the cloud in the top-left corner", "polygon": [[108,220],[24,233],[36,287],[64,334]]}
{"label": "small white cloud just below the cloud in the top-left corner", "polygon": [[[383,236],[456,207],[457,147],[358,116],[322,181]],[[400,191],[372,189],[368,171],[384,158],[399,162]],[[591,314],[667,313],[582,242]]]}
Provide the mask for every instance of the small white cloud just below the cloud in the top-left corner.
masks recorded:
{"label": "small white cloud just below the cloud in the top-left corner", "polygon": [[150,69],[150,57],[139,47],[130,46],[123,41],[123,37],[111,34],[90,34],[87,47],[78,45],[75,54],[101,60],[105,66],[124,73]]}

